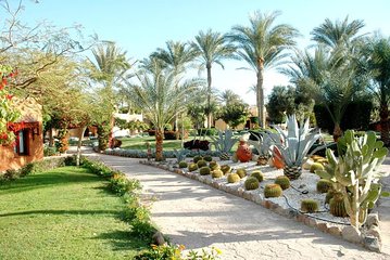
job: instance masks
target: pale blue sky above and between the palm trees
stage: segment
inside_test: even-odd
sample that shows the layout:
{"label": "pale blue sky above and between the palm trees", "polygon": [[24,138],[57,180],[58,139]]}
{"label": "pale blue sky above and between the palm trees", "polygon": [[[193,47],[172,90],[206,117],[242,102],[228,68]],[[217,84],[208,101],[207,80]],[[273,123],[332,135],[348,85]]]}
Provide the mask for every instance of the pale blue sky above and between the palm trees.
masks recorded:
{"label": "pale blue sky above and between the palm trees", "polygon": [[[9,0],[11,3],[18,2]],[[390,1],[375,0],[25,0],[23,21],[33,25],[46,20],[65,27],[80,24],[85,35],[97,34],[100,39],[115,41],[128,57],[140,60],[156,48],[164,48],[167,40],[192,40],[199,30],[212,28],[227,32],[234,25],[248,25],[249,14],[281,11],[276,23],[287,23],[302,34],[298,39],[301,49],[310,42],[310,31],[325,18],[364,20],[362,32],[380,30],[390,36]],[[237,70],[244,63],[226,62],[225,70],[213,68],[213,86],[232,89],[250,103],[254,94],[247,93],[255,82],[255,74]],[[286,84],[288,79],[275,70],[265,74],[266,93],[275,84]]]}

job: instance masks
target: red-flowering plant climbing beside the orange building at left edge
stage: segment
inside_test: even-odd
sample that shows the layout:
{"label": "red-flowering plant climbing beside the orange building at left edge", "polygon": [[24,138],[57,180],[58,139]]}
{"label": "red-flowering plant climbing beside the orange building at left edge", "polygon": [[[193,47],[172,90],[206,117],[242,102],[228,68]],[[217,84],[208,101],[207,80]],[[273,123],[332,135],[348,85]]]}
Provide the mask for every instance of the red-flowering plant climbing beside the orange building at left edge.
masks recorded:
{"label": "red-flowering plant climbing beside the orange building at left edge", "polygon": [[15,140],[15,130],[18,127],[14,123],[20,117],[20,113],[12,106],[12,98],[7,84],[8,81],[16,76],[10,66],[0,65],[0,145],[12,144]]}

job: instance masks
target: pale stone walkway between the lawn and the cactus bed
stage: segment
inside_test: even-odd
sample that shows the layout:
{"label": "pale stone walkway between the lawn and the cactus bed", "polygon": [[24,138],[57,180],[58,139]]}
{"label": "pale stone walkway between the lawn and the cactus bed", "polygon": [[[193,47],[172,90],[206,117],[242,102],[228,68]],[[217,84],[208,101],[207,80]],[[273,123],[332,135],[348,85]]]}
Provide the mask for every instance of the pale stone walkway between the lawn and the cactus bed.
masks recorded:
{"label": "pale stone walkway between the lawn and the cactus bed", "polygon": [[139,159],[97,156],[141,181],[156,197],[153,221],[172,243],[188,249],[214,246],[222,259],[390,259]]}

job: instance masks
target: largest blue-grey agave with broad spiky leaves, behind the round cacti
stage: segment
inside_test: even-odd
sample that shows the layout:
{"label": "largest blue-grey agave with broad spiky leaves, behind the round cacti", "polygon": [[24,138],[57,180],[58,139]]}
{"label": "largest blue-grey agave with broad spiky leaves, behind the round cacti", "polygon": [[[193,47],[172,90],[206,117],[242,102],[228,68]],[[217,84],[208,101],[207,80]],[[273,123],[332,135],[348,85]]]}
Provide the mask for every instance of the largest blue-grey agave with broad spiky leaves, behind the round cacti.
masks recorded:
{"label": "largest blue-grey agave with broad spiky leaves, behind the round cacti", "polygon": [[274,126],[278,134],[266,131],[269,139],[278,147],[285,162],[284,173],[290,180],[298,179],[302,173],[303,158],[306,156],[312,145],[320,138],[319,130],[309,126],[309,118],[298,125],[295,115],[287,118],[287,133]]}

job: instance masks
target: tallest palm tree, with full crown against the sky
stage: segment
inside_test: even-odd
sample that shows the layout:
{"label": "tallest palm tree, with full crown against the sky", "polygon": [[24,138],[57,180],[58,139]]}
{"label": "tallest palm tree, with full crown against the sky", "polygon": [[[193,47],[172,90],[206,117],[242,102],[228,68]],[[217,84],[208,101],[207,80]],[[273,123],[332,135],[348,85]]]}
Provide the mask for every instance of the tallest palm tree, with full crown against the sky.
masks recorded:
{"label": "tallest palm tree, with full crown against the sky", "polygon": [[285,50],[295,46],[298,30],[287,24],[275,25],[279,12],[262,14],[259,11],[250,17],[250,26],[234,26],[229,38],[239,49],[238,55],[256,72],[256,103],[259,122],[265,127],[264,117],[264,69],[278,66],[288,55]]}

